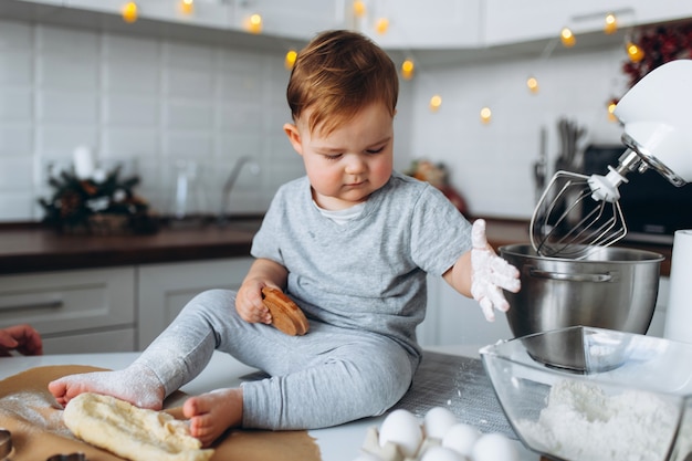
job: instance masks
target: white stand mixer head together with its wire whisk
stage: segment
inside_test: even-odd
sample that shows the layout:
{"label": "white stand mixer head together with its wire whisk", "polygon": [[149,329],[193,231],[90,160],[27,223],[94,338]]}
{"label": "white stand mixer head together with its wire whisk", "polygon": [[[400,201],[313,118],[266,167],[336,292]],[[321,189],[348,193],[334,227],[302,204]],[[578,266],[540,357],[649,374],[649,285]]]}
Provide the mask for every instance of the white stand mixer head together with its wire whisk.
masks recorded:
{"label": "white stand mixer head together with its wire whisk", "polygon": [[627,147],[601,175],[557,171],[531,219],[531,243],[542,256],[584,259],[627,234],[618,187],[631,171],[652,168],[677,187],[692,182],[692,60],[663,64],[618,103]]}

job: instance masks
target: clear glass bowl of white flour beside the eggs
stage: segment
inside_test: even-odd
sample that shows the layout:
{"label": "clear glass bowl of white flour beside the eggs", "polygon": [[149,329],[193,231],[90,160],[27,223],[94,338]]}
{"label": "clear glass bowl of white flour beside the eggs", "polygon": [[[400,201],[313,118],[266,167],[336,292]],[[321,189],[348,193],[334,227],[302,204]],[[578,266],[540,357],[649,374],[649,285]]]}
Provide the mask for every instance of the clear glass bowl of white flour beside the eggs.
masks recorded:
{"label": "clear glass bowl of white flour beside the eggs", "polygon": [[[579,369],[530,353],[575,336]],[[575,326],[485,346],[481,358],[533,451],[565,461],[692,460],[692,344]]]}

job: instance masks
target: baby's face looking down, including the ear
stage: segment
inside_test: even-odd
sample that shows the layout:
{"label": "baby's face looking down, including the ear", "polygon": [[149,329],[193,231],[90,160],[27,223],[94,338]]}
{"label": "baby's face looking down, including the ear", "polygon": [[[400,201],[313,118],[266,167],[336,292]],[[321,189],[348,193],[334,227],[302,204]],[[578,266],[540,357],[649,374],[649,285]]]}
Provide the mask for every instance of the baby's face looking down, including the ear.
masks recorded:
{"label": "baby's face looking down, including the ear", "polygon": [[352,207],[387,184],[394,161],[394,119],[384,104],[365,107],[328,135],[310,132],[310,115],[308,109],[284,130],[303,157],[319,207]]}

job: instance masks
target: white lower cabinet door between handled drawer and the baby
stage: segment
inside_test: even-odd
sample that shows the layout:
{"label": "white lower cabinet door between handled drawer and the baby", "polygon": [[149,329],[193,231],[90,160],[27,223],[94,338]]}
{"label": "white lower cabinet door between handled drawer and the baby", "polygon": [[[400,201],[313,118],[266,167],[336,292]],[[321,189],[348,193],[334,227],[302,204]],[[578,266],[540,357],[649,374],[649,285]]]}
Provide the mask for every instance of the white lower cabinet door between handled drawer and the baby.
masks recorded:
{"label": "white lower cabinet door between handled drawer and the baby", "polygon": [[202,291],[238,290],[252,261],[252,258],[232,258],[139,266],[138,348],[147,347]]}

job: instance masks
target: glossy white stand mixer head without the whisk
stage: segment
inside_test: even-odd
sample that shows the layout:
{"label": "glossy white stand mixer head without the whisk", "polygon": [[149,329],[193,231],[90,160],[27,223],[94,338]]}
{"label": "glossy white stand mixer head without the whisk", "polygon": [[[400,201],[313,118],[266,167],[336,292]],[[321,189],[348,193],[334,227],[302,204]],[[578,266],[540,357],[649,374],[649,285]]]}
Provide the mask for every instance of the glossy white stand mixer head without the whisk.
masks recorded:
{"label": "glossy white stand mixer head without the whisk", "polygon": [[692,60],[665,63],[618,103],[622,140],[677,186],[692,182]]}

